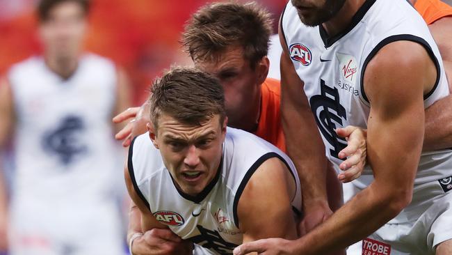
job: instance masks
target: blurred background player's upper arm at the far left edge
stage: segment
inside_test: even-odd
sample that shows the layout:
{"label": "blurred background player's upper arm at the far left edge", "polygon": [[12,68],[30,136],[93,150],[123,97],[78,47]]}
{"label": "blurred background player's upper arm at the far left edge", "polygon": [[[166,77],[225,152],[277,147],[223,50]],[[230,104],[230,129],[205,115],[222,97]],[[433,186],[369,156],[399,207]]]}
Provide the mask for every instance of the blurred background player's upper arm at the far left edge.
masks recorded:
{"label": "blurred background player's upper arm at the far left edge", "polygon": [[0,148],[8,141],[14,124],[13,91],[6,77],[2,77],[0,79]]}

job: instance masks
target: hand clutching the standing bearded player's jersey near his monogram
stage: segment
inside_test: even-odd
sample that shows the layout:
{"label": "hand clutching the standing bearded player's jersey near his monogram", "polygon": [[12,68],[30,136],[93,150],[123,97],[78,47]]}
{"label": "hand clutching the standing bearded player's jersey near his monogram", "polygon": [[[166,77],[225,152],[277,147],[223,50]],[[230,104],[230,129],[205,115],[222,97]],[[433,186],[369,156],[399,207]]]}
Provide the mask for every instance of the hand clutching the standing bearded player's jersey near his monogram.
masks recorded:
{"label": "hand clutching the standing bearded player's jersey near his monogram", "polygon": [[347,147],[339,152],[339,158],[346,159],[339,164],[339,168],[344,172],[337,176],[342,183],[348,183],[359,178],[366,165],[367,130],[349,125],[338,128],[336,133],[348,141]]}

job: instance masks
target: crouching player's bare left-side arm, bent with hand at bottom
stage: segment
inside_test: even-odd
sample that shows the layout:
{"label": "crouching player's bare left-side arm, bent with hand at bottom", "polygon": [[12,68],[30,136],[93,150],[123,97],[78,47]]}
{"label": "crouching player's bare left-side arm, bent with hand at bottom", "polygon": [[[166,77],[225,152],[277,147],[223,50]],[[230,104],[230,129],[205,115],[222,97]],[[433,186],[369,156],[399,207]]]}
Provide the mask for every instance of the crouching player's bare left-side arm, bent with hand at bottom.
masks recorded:
{"label": "crouching player's bare left-side arm, bent with hand at bottom", "polygon": [[131,247],[133,255],[149,254],[192,254],[193,246],[172,233],[168,226],[158,222],[152,212],[145,206],[134,189],[128,167],[124,167],[124,179],[127,191],[133,203],[129,214],[129,231],[127,240],[134,233],[144,233],[136,238]]}

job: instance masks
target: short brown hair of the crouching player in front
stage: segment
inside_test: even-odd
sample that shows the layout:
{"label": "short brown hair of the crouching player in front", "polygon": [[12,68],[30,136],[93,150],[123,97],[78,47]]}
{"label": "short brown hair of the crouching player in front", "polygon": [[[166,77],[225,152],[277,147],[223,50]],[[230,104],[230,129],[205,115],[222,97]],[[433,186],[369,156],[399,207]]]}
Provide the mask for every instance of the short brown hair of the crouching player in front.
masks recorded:
{"label": "short brown hair of the crouching player in front", "polygon": [[213,116],[225,119],[225,95],[215,77],[195,68],[171,68],[150,89],[150,118],[158,128],[159,118],[168,114],[181,123],[201,125]]}

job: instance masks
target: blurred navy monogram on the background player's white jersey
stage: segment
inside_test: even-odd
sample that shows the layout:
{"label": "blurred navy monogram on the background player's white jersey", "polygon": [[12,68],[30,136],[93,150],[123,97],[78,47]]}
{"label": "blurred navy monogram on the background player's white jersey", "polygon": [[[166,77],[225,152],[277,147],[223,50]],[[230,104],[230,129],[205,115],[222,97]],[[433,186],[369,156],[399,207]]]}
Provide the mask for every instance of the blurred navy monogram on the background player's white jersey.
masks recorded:
{"label": "blurred navy monogram on the background player's white jersey", "polygon": [[77,155],[86,153],[88,150],[87,146],[77,139],[85,128],[79,116],[66,116],[54,130],[44,134],[42,147],[47,153],[56,155],[61,163],[70,164]]}

